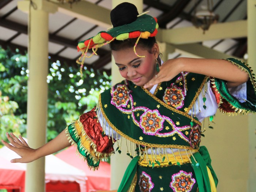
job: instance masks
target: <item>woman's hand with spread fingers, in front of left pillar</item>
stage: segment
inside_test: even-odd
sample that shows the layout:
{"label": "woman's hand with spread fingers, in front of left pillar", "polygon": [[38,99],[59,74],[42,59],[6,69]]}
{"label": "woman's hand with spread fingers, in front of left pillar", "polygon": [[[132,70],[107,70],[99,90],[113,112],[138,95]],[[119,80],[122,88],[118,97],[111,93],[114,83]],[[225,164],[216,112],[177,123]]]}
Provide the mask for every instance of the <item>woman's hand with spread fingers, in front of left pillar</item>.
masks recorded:
{"label": "woman's hand with spread fingers, in front of left pillar", "polygon": [[30,148],[27,142],[22,138],[22,136],[19,136],[18,139],[13,133],[10,134],[11,135],[9,135],[9,133],[6,133],[6,136],[12,145],[5,142],[4,140],[1,141],[6,147],[8,147],[10,150],[14,151],[21,157],[18,159],[12,159],[12,163],[29,163],[38,158],[35,153],[36,150]]}

